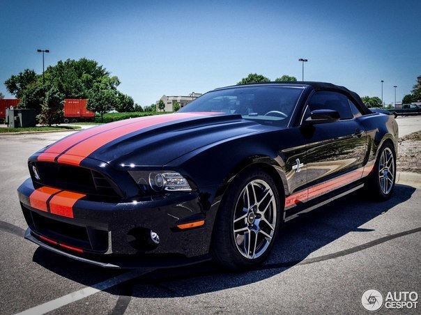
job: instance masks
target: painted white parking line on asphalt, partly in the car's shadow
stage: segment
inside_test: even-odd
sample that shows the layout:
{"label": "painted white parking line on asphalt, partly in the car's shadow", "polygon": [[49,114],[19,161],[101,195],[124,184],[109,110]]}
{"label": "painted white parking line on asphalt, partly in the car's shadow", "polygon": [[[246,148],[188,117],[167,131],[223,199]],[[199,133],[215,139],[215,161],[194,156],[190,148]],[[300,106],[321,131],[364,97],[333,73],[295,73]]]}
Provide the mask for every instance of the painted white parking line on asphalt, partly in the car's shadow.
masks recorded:
{"label": "painted white parking line on asphalt, partly in the car's shadow", "polygon": [[98,284],[94,284],[93,286],[88,286],[79,291],[75,291],[67,295],[63,295],[61,298],[56,298],[55,300],[45,302],[44,304],[38,305],[36,307],[32,307],[31,309],[26,309],[26,311],[17,313],[17,315],[45,314],[47,312],[54,311],[54,309],[59,309],[60,307],[68,305],[72,302],[76,302],[78,300],[82,300],[83,298],[87,298],[88,296],[98,293],[100,291],[107,290],[111,288],[112,286],[116,286],[117,284],[121,284],[131,279],[135,279],[136,277],[144,275],[145,273],[150,272],[152,270],[153,269],[151,268],[151,269],[133,270],[132,272],[125,272],[122,275],[112,277]]}

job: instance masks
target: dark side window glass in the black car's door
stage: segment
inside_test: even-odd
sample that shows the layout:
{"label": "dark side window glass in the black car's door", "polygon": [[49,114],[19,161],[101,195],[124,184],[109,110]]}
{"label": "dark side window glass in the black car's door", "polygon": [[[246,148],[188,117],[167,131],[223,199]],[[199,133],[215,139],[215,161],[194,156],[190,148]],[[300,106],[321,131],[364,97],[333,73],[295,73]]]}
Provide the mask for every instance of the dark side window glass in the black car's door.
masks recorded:
{"label": "dark side window glass in the black car's door", "polygon": [[[312,95],[312,98],[310,98],[308,106],[310,111],[316,109],[335,110],[339,112],[341,119],[351,119],[354,117],[353,112],[351,112],[349,99],[345,95],[337,92],[316,92]],[[358,109],[356,110],[358,111]]]}

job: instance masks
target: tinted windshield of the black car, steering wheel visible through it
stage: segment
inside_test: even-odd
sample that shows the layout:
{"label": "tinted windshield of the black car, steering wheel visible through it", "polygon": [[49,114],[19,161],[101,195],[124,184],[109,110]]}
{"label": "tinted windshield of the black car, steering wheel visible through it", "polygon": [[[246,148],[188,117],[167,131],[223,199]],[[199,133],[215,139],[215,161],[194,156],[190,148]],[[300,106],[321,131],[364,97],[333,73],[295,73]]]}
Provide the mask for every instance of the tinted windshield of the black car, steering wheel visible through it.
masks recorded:
{"label": "tinted windshield of the black car, steering wheel visible through it", "polygon": [[240,114],[245,119],[286,126],[303,87],[250,86],[211,91],[178,112]]}

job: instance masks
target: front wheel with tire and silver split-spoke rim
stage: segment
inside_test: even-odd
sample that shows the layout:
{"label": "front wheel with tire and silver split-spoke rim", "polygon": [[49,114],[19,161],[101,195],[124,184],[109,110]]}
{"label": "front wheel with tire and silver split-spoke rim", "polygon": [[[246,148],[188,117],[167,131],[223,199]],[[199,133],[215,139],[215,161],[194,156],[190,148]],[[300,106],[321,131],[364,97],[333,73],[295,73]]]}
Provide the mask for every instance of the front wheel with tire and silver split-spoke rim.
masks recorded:
{"label": "front wheel with tire and silver split-spoke rim", "polygon": [[238,175],[217,213],[211,244],[214,261],[229,269],[263,263],[283,222],[283,209],[275,181],[265,171]]}

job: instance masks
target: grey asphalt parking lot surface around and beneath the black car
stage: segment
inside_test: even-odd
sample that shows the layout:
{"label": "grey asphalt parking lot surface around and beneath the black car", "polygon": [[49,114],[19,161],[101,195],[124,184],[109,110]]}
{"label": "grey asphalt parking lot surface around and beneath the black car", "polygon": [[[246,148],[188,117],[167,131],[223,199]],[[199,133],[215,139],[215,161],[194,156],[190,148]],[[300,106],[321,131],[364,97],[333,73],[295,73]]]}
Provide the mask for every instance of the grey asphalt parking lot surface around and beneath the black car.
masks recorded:
{"label": "grey asphalt parking lot surface around and beneath the black car", "polygon": [[[397,121],[400,135],[421,130],[420,118]],[[357,192],[289,222],[270,259],[247,272],[105,270],[40,249],[22,237],[16,189],[29,155],[65,135],[0,135],[0,314],[365,314],[367,289],[421,295],[421,183],[404,179],[389,201]]]}

